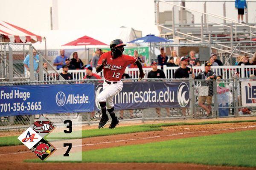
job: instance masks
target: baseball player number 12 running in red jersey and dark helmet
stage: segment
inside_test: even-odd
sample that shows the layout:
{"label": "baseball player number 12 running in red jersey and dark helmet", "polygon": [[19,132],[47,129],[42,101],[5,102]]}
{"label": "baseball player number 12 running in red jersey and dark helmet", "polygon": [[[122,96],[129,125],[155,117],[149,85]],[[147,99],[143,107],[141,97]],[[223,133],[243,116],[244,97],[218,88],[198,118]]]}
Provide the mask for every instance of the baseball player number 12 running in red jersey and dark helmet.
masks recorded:
{"label": "baseball player number 12 running in red jersey and dark helmet", "polygon": [[126,44],[120,39],[111,41],[111,51],[102,54],[99,58],[98,65],[96,66],[97,73],[104,69],[103,73],[105,78],[103,91],[97,96],[97,101],[102,109],[102,118],[99,122],[99,128],[104,127],[108,122],[107,110],[112,118],[109,128],[113,129],[119,124],[119,120],[114,113],[113,96],[122,91],[123,84],[121,78],[125,72],[126,66],[136,63],[140,70],[139,77],[142,79],[145,76],[142,65],[136,57],[122,54],[125,45]]}

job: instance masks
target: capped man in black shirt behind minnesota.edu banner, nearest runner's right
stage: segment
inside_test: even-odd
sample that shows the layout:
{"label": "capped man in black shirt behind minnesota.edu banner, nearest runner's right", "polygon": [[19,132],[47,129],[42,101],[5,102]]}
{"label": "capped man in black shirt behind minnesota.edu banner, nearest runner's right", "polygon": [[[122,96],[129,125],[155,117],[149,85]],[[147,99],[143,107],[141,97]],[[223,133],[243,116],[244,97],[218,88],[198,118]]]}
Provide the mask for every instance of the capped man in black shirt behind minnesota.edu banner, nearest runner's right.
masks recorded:
{"label": "capped man in black shirt behind minnesota.edu banner, nearest runner's right", "polygon": [[[151,63],[152,71],[148,72],[148,78],[160,78],[165,79],[165,74],[163,70],[157,69],[157,62],[153,61]],[[161,108],[156,108],[157,116],[161,117]],[[170,116],[170,109],[166,108],[167,116]]]}

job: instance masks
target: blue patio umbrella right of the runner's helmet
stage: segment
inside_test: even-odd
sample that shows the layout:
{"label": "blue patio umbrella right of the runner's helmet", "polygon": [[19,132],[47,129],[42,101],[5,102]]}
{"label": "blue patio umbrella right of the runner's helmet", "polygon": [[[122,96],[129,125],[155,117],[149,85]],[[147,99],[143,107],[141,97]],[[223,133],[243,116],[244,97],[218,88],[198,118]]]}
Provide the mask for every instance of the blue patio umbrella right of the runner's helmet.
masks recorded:
{"label": "blue patio umbrella right of the runner's helmet", "polygon": [[[130,42],[127,43],[143,43],[143,42],[149,42],[150,44],[150,53],[151,53],[151,43],[155,43],[155,42],[173,42],[172,40],[168,40],[165,38],[161,38],[161,37],[157,37],[154,34],[148,34],[145,37],[141,37],[138,38],[136,40],[132,40]],[[150,54],[149,54],[150,56]],[[149,57],[151,59],[151,57]]]}

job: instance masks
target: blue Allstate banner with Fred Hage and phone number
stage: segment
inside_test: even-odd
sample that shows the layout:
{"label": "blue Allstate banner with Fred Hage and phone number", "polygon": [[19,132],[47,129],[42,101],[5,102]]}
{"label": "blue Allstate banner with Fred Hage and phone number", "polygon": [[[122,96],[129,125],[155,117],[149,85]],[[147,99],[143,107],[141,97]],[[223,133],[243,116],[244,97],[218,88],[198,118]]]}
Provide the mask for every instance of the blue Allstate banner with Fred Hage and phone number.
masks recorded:
{"label": "blue Allstate banner with Fred Hage and phone number", "polygon": [[94,85],[0,87],[0,116],[94,111]]}

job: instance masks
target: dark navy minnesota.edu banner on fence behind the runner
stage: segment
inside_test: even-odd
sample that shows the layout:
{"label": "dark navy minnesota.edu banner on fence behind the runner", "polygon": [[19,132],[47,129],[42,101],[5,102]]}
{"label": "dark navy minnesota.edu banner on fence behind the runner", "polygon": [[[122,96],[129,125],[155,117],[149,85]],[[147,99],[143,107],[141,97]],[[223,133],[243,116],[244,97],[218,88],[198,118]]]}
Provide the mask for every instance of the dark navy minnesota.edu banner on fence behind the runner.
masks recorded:
{"label": "dark navy minnesota.edu banner on fence behind the runner", "polygon": [[[95,88],[96,98],[103,87],[98,84]],[[116,110],[189,107],[189,83],[124,82],[113,101]],[[98,102],[96,108],[100,108]]]}

